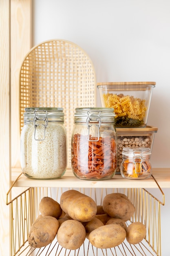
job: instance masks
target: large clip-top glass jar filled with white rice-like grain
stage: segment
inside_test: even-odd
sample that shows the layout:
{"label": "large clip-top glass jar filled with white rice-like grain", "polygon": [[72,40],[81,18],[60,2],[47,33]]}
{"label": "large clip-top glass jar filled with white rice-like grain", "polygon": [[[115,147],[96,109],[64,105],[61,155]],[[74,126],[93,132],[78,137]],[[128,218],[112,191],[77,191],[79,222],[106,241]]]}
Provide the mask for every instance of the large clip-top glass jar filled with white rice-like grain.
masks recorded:
{"label": "large clip-top glass jar filled with white rice-like grain", "polygon": [[21,132],[21,167],[33,179],[56,179],[67,166],[63,108],[25,108]]}

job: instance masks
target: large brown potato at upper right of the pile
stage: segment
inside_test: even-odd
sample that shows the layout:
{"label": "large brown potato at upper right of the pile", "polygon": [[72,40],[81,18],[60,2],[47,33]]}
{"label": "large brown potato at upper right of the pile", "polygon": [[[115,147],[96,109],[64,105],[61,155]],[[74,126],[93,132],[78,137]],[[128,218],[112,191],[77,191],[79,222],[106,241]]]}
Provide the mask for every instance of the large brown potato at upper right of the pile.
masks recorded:
{"label": "large brown potato at upper right of the pile", "polygon": [[104,197],[104,211],[113,218],[129,220],[135,213],[135,207],[128,197],[121,193],[111,193]]}

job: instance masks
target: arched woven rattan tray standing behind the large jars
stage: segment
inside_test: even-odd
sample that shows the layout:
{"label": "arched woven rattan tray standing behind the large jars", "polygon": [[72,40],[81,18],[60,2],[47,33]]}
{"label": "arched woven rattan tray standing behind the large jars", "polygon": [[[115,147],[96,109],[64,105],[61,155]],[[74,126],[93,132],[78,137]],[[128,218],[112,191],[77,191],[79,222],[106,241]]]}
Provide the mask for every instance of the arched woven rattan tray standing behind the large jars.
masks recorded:
{"label": "arched woven rattan tray standing behind the large jars", "polygon": [[78,45],[48,40],[31,49],[20,70],[20,128],[24,108],[64,108],[68,137],[68,167],[75,108],[95,107],[96,79],[93,63]]}

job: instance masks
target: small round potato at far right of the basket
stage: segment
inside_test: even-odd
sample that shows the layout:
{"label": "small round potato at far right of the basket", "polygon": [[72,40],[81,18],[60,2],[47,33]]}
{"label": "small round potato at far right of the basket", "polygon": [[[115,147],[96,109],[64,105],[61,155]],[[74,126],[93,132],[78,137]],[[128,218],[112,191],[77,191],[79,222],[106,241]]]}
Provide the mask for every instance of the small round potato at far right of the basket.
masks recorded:
{"label": "small round potato at far right of the basket", "polygon": [[146,236],[146,227],[141,222],[133,222],[126,229],[126,240],[128,243],[136,245]]}

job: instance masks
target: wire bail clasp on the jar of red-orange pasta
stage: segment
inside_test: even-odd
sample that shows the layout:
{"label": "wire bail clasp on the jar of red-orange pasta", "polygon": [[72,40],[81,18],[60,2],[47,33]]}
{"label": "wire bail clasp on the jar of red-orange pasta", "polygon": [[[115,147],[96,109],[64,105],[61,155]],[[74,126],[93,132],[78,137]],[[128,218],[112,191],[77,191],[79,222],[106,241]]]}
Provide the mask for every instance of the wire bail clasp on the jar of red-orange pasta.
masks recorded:
{"label": "wire bail clasp on the jar of red-orange pasta", "polygon": [[[88,117],[86,119],[86,125],[88,128],[88,141],[99,141],[99,129],[102,124],[102,120],[100,118],[100,111],[99,110],[88,110],[87,111]],[[89,123],[95,123],[98,124],[89,124]],[[90,139],[90,128],[91,126],[95,125],[97,127],[97,139]]]}

